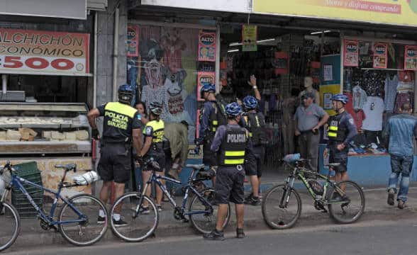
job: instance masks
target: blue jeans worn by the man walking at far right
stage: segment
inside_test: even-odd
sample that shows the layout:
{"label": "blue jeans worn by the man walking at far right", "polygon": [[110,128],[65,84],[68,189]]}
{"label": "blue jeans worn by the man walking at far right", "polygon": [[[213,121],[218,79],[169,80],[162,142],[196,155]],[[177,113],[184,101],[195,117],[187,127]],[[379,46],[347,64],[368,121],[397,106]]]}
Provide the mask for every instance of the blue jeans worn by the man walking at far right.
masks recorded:
{"label": "blue jeans worn by the man walking at far right", "polygon": [[399,193],[396,200],[406,202],[408,194],[408,185],[410,184],[410,173],[413,167],[413,156],[397,156],[391,154],[391,175],[389,176],[388,190],[391,188],[396,193],[396,184],[399,181],[401,174],[401,181],[399,184]]}

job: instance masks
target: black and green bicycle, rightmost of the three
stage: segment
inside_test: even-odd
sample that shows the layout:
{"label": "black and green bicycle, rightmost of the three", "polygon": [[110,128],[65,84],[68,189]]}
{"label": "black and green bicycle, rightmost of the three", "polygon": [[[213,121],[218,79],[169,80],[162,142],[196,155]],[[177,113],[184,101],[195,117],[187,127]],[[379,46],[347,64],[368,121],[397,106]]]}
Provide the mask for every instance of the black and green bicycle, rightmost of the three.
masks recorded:
{"label": "black and green bicycle, rightmost of the three", "polygon": [[[316,210],[329,212],[330,217],[337,223],[347,224],[359,220],[365,210],[362,188],[354,181],[335,183],[330,180],[333,167],[340,164],[325,164],[329,166],[328,174],[325,176],[306,169],[305,162],[308,160],[296,160],[294,166],[285,162],[292,168],[287,180],[284,184],[272,187],[265,194],[262,200],[262,215],[267,225],[273,229],[288,229],[296,224],[301,215],[302,205],[301,197],[294,188],[296,178],[306,186]],[[321,186],[316,179],[324,180],[324,185]]]}

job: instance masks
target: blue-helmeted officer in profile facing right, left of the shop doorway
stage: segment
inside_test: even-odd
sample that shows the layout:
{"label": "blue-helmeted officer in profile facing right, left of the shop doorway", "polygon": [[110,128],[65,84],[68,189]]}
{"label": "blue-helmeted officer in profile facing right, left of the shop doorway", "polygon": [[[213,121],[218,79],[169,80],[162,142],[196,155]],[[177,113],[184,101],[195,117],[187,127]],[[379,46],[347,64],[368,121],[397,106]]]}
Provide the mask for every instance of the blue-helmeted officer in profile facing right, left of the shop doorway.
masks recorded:
{"label": "blue-helmeted officer in profile facing right, left of the shop doorway", "polygon": [[[203,145],[203,163],[210,166],[210,169],[216,172],[218,163],[217,155],[210,149],[214,139],[214,134],[220,125],[226,125],[226,115],[223,104],[216,101],[216,86],[213,84],[204,84],[200,89],[201,98],[204,98],[203,109],[200,115],[199,139],[196,140],[196,146]],[[198,152],[198,149],[197,149]],[[213,184],[215,178],[213,177]]]}

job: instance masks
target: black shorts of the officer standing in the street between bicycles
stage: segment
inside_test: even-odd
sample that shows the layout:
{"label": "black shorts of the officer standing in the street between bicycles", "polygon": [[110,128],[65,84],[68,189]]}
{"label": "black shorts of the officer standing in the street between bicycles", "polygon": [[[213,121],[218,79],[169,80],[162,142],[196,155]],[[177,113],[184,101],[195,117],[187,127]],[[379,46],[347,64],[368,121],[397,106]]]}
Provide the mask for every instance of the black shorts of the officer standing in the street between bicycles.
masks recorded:
{"label": "black shorts of the officer standing in the street between bicycles", "polygon": [[219,166],[216,173],[215,202],[227,204],[229,201],[235,204],[243,204],[245,192],[243,182],[245,181],[245,171],[240,166]]}

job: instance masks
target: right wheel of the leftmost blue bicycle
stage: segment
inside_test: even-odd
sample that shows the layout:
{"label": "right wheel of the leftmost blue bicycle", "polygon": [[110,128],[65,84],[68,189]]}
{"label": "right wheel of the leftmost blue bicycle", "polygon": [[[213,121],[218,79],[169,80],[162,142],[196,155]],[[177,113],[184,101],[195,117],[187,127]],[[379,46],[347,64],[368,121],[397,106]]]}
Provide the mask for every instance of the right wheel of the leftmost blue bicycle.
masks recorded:
{"label": "right wheel of the leftmost blue bicycle", "polygon": [[[107,230],[108,217],[104,203],[99,198],[88,194],[73,196],[68,199],[68,202],[74,209],[65,203],[58,217],[60,222],[65,222],[58,225],[62,237],[77,246],[87,246],[98,242]],[[82,213],[82,217],[77,214],[76,210]],[[104,223],[98,222],[99,210],[105,213]],[[72,222],[83,218],[82,222]]]}

